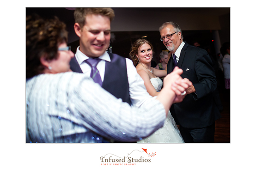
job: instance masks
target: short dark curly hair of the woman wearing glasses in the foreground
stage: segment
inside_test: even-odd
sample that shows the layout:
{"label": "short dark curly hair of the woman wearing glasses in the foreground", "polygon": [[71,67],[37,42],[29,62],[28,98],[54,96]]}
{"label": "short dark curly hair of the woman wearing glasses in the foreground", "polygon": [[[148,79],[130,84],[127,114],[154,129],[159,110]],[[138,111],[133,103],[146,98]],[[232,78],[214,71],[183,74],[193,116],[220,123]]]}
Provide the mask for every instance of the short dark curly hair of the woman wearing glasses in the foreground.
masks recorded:
{"label": "short dark curly hair of the woman wearing glasses in the foreground", "polygon": [[26,16],[26,78],[42,74],[42,56],[58,58],[58,45],[67,42],[66,25],[58,20],[43,19],[37,14]]}

